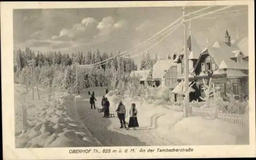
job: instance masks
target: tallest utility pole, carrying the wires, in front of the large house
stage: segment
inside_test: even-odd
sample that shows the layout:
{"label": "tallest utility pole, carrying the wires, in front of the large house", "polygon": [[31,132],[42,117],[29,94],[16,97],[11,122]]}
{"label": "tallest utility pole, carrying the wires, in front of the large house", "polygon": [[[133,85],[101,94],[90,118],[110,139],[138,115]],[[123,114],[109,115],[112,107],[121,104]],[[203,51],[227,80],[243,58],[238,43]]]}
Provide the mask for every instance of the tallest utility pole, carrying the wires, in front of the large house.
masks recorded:
{"label": "tallest utility pole, carrying the wires, in front of the large house", "polygon": [[185,22],[185,7],[182,9],[182,19],[184,25],[184,69],[185,69],[185,79],[184,79],[184,88],[185,88],[185,98],[184,98],[184,107],[185,107],[185,116],[188,117],[189,111],[189,93],[188,93],[188,53],[187,53],[187,28]]}

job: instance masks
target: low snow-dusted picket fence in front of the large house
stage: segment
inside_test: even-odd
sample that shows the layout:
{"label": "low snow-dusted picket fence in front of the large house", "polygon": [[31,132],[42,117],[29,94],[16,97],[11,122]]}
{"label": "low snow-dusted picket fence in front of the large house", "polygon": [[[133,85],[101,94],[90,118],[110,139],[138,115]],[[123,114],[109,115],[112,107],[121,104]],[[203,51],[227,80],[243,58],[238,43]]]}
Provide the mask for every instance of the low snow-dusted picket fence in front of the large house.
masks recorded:
{"label": "low snow-dusted picket fence in front of the large house", "polygon": [[192,108],[192,115],[201,116],[203,118],[209,119],[220,119],[232,124],[248,124],[249,117],[248,114],[228,114],[221,113],[211,108]]}

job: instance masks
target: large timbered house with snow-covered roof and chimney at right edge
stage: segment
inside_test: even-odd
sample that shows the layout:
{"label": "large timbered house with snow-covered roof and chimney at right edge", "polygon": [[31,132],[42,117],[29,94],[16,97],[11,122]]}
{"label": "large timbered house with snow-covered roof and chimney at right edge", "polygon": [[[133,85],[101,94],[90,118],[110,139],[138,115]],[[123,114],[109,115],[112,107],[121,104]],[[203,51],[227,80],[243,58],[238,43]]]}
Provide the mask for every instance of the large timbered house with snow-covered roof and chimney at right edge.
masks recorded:
{"label": "large timbered house with snow-covered roof and chimney at right edge", "polygon": [[[208,82],[212,78],[215,92],[218,97],[226,97],[226,93],[233,94],[236,99],[243,100],[248,97],[248,52],[246,41],[243,48],[231,43],[228,32],[225,41],[216,41],[214,45],[206,47],[200,54],[191,73],[200,90],[200,96],[205,97],[203,90],[204,78]],[[242,39],[239,40],[241,42]],[[248,41],[247,41],[248,48]],[[248,51],[248,50],[247,50]]]}

